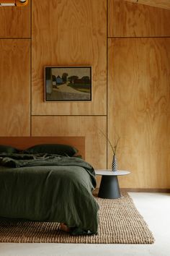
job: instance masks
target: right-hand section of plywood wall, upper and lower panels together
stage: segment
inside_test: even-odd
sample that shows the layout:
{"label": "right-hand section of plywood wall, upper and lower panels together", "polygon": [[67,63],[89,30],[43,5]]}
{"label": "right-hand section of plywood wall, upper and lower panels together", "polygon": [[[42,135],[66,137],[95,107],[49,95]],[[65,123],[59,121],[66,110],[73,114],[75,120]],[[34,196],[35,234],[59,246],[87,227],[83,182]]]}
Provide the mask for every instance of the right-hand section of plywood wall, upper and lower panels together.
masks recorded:
{"label": "right-hand section of plywood wall, upper and lower panels together", "polygon": [[120,185],[169,188],[170,11],[109,0],[108,12],[108,136],[131,171]]}

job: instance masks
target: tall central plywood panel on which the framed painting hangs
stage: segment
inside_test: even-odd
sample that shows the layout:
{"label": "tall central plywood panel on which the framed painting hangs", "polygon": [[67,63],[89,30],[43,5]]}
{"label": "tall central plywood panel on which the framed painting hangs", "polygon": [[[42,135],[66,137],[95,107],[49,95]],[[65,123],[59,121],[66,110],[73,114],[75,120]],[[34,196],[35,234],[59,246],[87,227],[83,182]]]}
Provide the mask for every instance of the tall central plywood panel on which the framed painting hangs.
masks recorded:
{"label": "tall central plywood panel on which the framed painting hangs", "polygon": [[[92,101],[44,102],[45,66],[92,66]],[[32,1],[32,114],[106,114],[105,0]]]}

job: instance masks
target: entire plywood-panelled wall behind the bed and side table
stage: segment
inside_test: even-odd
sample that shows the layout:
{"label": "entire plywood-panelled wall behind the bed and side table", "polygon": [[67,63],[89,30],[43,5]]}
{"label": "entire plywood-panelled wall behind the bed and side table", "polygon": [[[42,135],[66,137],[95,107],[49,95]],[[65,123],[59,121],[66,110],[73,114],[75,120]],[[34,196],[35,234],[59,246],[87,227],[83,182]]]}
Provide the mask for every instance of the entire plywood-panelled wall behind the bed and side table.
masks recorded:
{"label": "entire plywood-panelled wall behind the bed and side table", "polygon": [[[170,11],[120,0],[15,8],[0,9],[0,135],[86,136],[86,161],[110,168],[100,130],[117,132],[118,166],[131,171],[120,186],[169,188]],[[45,103],[50,65],[91,65],[92,101]]]}

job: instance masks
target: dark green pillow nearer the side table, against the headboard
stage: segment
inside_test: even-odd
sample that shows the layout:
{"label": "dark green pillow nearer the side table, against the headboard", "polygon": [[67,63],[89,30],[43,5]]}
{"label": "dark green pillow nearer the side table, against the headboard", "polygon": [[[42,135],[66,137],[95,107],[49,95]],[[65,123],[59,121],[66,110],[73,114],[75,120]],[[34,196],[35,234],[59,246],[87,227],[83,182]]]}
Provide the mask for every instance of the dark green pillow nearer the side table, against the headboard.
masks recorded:
{"label": "dark green pillow nearer the side table, against the headboard", "polygon": [[63,145],[63,144],[40,144],[40,145],[35,145],[31,148],[27,148],[25,151],[30,154],[50,153],[50,154],[68,155],[68,156],[73,156],[78,152],[76,148],[70,145]]}

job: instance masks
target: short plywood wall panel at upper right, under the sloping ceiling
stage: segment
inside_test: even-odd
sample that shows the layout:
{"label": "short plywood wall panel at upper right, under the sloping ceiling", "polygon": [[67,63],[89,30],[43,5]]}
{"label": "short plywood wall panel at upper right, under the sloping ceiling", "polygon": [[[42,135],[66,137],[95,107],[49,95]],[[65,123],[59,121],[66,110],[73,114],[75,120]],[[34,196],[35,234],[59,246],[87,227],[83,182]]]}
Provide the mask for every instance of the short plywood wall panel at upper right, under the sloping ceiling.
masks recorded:
{"label": "short plywood wall panel at upper right, under the sloping ceiling", "polygon": [[151,37],[170,35],[170,10],[109,0],[109,37]]}

